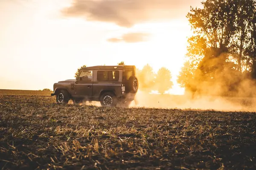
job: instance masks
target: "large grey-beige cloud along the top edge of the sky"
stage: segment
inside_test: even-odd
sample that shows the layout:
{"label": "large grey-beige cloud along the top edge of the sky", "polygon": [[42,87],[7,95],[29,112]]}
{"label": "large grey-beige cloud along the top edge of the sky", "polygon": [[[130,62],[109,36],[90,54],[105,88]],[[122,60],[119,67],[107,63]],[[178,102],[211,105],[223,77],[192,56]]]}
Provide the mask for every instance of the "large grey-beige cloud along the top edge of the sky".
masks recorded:
{"label": "large grey-beige cloud along the top edge of the sky", "polygon": [[66,17],[115,23],[131,27],[137,23],[185,17],[190,5],[201,0],[73,0],[61,13]]}

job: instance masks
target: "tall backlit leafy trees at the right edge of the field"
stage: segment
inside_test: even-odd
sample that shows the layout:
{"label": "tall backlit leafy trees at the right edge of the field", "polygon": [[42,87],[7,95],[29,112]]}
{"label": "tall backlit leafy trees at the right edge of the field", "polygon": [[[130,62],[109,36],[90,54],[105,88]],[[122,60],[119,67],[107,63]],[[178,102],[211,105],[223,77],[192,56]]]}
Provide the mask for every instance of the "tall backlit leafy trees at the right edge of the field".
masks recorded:
{"label": "tall backlit leafy trees at the right edge of the field", "polygon": [[256,0],[205,0],[186,15],[193,35],[177,82],[196,94],[250,96],[256,79]]}

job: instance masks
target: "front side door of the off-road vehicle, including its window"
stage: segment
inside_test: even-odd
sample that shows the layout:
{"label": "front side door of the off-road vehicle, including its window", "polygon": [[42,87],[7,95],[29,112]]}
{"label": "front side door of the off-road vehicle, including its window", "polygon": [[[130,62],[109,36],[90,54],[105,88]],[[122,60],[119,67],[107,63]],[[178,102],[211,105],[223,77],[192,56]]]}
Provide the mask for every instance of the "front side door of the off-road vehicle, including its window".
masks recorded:
{"label": "front side door of the off-road vehicle, including its window", "polygon": [[76,96],[93,95],[93,71],[83,70],[76,81]]}

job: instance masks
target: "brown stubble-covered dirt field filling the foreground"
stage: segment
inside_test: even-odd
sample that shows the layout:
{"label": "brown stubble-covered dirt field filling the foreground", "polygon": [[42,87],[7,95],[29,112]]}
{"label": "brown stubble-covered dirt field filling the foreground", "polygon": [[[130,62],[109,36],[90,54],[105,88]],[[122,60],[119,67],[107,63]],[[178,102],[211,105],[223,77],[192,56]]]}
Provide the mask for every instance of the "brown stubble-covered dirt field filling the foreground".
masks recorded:
{"label": "brown stubble-covered dirt field filling the foreground", "polygon": [[[0,95],[0,169],[256,169],[256,114]],[[3,92],[2,92],[3,94]]]}

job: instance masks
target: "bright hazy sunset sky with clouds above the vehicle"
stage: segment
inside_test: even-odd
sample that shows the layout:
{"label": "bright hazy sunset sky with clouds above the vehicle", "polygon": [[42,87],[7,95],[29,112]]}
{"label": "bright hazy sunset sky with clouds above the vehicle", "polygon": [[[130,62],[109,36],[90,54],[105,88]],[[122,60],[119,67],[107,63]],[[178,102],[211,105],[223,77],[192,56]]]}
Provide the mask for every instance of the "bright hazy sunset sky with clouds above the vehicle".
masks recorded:
{"label": "bright hazy sunset sky with clouds above the vehicle", "polygon": [[201,0],[0,0],[0,89],[52,89],[82,65],[124,61],[168,68],[180,94],[190,6]]}

